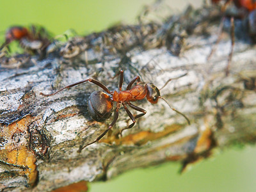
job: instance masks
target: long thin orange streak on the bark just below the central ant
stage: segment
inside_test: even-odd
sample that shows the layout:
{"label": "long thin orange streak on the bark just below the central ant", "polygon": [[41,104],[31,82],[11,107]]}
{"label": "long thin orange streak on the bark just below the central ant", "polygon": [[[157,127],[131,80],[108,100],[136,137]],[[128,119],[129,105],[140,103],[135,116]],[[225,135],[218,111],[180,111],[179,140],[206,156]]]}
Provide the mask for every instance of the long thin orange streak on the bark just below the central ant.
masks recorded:
{"label": "long thin orange streak on the bark just below the central ant", "polygon": [[170,126],[166,126],[164,131],[161,132],[150,132],[150,131],[141,131],[136,134],[130,134],[123,138],[116,139],[116,136],[111,136],[106,139],[102,139],[99,142],[104,143],[113,143],[115,142],[116,145],[143,145],[148,141],[157,140],[159,138],[163,138],[164,136],[178,131],[182,128],[181,125],[173,124]]}

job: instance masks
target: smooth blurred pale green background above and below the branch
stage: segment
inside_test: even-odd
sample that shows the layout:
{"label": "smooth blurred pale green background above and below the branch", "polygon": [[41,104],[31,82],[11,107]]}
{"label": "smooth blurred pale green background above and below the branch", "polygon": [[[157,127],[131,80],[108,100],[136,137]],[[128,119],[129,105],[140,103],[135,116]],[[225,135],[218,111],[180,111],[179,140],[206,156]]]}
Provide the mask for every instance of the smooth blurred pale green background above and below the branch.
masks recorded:
{"label": "smooth blurred pale green background above and below the branch", "polygon": [[[136,22],[150,0],[1,0],[0,40],[12,25],[40,24],[54,35],[74,29],[80,35],[124,22]],[[173,12],[189,1],[170,0]],[[195,6],[202,1],[190,0]],[[108,182],[90,184],[90,191],[256,191],[256,147],[232,147],[216,152],[214,158],[195,164],[179,175],[180,164],[165,163],[131,170]]]}

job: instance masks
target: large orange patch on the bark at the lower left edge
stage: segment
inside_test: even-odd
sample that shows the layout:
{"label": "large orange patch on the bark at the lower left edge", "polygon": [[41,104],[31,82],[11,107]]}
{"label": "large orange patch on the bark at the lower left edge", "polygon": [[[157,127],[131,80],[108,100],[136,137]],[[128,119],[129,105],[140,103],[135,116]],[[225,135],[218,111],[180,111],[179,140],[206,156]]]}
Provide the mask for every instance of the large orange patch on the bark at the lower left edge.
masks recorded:
{"label": "large orange patch on the bark at the lower left edge", "polygon": [[37,177],[36,157],[28,147],[28,125],[33,119],[33,116],[26,115],[24,118],[2,127],[3,131],[0,132],[0,136],[7,140],[0,150],[0,161],[24,168],[20,174],[28,177],[28,184],[31,186],[35,184]]}

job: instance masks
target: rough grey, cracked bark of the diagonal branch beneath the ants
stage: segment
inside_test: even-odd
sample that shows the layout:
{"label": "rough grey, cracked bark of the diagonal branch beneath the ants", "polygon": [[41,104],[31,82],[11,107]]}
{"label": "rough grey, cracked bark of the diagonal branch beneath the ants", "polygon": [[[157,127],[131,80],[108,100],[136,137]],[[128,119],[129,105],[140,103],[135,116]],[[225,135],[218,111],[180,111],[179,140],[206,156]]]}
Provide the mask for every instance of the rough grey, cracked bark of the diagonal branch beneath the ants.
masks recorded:
{"label": "rough grey, cracked bark of the diagonal branch beneath the ants", "polygon": [[[256,51],[247,40],[236,39],[226,76],[228,35],[207,60],[219,22],[219,10],[188,9],[162,24],[117,26],[73,38],[49,48],[43,59],[38,55],[20,59],[19,67],[2,60],[0,189],[49,191],[165,161],[180,161],[186,168],[210,156],[212,148],[255,143]],[[100,88],[84,83],[51,97],[40,92],[52,93],[87,77],[115,90],[119,80],[112,77],[120,69],[124,88],[137,75],[161,88],[168,79],[186,74],[168,83],[161,96],[191,124],[163,100],[152,105],[145,99],[134,104],[147,114],[122,138],[118,132],[131,124],[124,109],[111,132],[77,152],[113,119],[100,123],[88,114],[88,97]]]}

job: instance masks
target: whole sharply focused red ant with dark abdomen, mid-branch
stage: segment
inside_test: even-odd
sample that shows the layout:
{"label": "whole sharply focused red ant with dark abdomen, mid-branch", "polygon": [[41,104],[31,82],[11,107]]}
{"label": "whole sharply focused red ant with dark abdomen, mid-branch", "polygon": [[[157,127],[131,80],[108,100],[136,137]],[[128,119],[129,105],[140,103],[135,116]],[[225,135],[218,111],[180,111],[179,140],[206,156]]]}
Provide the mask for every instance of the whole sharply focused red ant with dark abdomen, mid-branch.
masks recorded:
{"label": "whole sharply focused red ant with dark abdomen, mid-branch", "polygon": [[[183,75],[183,76],[185,76],[185,75]],[[183,77],[183,76],[180,76],[180,77]],[[177,78],[179,78],[179,77],[177,77]],[[175,79],[177,79],[177,78],[175,78]],[[164,86],[166,86],[166,84],[168,82],[170,82],[171,80],[172,79],[169,79],[164,84]],[[61,88],[60,90],[58,90],[55,93],[51,93],[49,95],[40,93],[40,95],[44,95],[44,96],[55,95],[56,93],[61,92],[62,90],[66,89],[66,88],[71,88],[72,86],[76,86],[77,84],[85,83],[87,81],[96,84],[97,86],[102,88],[102,90],[104,90],[106,92],[106,93],[102,92],[102,91],[92,92],[92,94],[90,95],[90,97],[88,99],[88,111],[94,120],[96,120],[97,122],[104,122],[106,119],[109,118],[109,116],[111,116],[112,109],[113,109],[113,102],[115,101],[117,104],[116,104],[115,116],[114,116],[113,122],[108,126],[108,129],[106,129],[106,131],[102,132],[102,134],[100,134],[100,136],[96,140],[92,141],[92,143],[88,143],[88,144],[84,145],[83,147],[81,146],[78,150],[79,152],[81,152],[81,150],[84,147],[87,147],[88,145],[92,145],[93,143],[99,141],[109,131],[109,129],[111,129],[113,127],[113,125],[115,125],[116,120],[118,119],[118,111],[121,108],[121,106],[124,106],[126,113],[132,120],[132,124],[130,124],[128,127],[124,128],[120,131],[121,136],[122,136],[122,131],[124,131],[125,129],[131,129],[136,122],[135,119],[139,118],[147,113],[147,111],[145,109],[139,108],[138,106],[134,106],[133,104],[131,104],[131,102],[136,101],[136,100],[141,100],[141,99],[147,98],[147,100],[149,102],[151,102],[152,104],[156,104],[158,99],[163,99],[173,111],[176,111],[180,115],[184,116],[184,118],[186,118],[188,124],[190,124],[189,119],[186,117],[186,115],[184,115],[177,109],[173,108],[171,106],[171,104],[169,104],[167,102],[167,100],[165,100],[163,97],[160,96],[159,89],[154,84],[141,82],[140,76],[134,77],[127,85],[126,90],[122,91],[122,84],[124,81],[124,70],[120,70],[120,80],[119,80],[119,90],[118,91],[111,92],[104,84],[100,83],[99,81],[97,81],[95,79],[88,78],[88,79],[84,79],[83,81],[79,81],[77,83],[65,86],[64,88]],[[137,81],[137,83],[132,87],[132,85],[136,81]],[[163,86],[163,88],[164,88],[164,86]],[[127,105],[136,111],[140,111],[141,113],[136,116],[133,116],[132,113],[127,108]]]}

